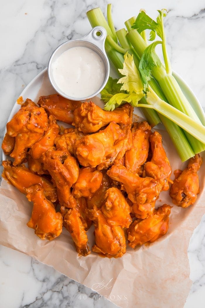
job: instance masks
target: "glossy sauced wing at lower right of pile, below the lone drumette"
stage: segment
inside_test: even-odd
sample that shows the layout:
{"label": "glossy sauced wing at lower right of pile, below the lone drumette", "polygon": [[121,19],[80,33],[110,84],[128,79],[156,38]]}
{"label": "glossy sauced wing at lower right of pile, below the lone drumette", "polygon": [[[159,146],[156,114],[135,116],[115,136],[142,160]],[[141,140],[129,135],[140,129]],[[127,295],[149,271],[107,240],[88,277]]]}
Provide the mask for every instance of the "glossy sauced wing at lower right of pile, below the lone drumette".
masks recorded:
{"label": "glossy sauced wing at lower right of pile, below the lone drumette", "polygon": [[132,248],[152,243],[167,233],[169,227],[169,214],[171,206],[164,204],[154,213],[143,220],[137,219],[132,222],[127,230],[128,245]]}

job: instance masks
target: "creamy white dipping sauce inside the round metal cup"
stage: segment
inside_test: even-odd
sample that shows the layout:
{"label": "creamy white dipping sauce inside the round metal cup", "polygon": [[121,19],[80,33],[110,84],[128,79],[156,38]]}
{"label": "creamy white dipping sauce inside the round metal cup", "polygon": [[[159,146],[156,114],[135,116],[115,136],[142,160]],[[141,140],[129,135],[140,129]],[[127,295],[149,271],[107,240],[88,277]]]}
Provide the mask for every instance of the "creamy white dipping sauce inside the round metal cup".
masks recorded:
{"label": "creamy white dipping sauce inside the round metal cup", "polygon": [[64,51],[52,64],[59,89],[74,98],[92,96],[103,84],[105,68],[92,49],[77,46]]}

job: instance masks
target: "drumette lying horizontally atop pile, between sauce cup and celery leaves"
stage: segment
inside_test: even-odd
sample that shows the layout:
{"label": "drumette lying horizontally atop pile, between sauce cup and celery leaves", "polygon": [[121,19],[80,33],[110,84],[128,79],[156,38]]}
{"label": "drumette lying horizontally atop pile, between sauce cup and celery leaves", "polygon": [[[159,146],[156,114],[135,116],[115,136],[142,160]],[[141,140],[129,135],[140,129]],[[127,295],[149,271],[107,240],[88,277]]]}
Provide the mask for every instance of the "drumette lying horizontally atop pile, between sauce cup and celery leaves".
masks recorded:
{"label": "drumette lying horizontally atop pile, between sauce cup and celery leaves", "polygon": [[110,122],[118,124],[132,124],[133,107],[125,104],[114,111],[104,111],[93,102],[82,103],[74,111],[73,125],[79,131],[86,133],[97,132]]}

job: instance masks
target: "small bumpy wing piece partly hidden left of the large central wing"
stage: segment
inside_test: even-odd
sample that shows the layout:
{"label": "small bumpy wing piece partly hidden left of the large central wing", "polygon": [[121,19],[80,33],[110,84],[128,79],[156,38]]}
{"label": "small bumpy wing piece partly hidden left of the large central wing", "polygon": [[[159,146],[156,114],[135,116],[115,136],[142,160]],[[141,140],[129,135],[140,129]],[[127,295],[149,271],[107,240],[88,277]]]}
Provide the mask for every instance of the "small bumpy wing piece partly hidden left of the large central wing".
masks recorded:
{"label": "small bumpy wing piece partly hidden left of the large central wing", "polygon": [[70,154],[74,155],[75,144],[77,140],[84,137],[82,132],[79,132],[77,128],[68,128],[62,136],[58,136],[55,139],[57,150],[68,150]]}

